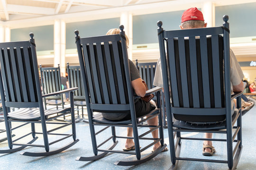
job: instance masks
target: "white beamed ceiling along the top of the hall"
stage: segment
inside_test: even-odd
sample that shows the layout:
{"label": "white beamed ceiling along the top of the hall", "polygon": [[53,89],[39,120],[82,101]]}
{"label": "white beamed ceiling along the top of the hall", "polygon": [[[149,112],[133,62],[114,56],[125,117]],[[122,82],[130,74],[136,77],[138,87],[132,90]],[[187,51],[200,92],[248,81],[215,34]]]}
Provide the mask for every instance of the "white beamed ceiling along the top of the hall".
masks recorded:
{"label": "white beamed ceiling along the top of the hall", "polygon": [[[174,11],[212,1],[216,6],[255,2],[256,0],[0,0],[0,21],[57,16],[78,12],[122,8],[136,13],[156,10]],[[144,7],[147,8],[145,12]],[[127,8],[125,8],[127,7]],[[140,11],[141,9],[141,11]]]}

